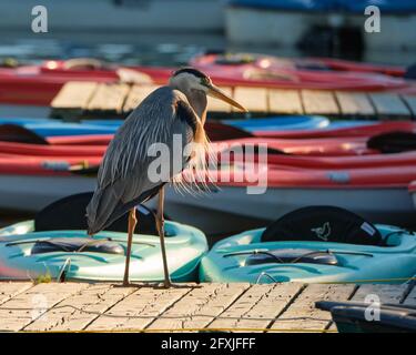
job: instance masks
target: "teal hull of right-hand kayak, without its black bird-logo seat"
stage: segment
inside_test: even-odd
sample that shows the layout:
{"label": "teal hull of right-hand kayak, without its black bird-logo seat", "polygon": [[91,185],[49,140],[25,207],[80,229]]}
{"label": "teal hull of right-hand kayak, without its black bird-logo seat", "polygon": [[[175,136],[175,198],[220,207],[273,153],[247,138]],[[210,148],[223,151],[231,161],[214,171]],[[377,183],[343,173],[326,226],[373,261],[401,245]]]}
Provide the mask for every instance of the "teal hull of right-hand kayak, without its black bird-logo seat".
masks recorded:
{"label": "teal hull of right-hand kayak, without its black bird-logo seat", "polygon": [[[222,240],[202,258],[202,282],[302,282],[302,283],[404,283],[416,274],[416,237],[409,232],[376,225],[388,246],[355,245],[334,242],[261,242],[264,229]],[[393,234],[392,234],[393,233]],[[394,235],[394,237],[392,236]],[[250,254],[241,252],[331,250],[337,264],[247,263]],[[227,255],[227,256],[224,256]]]}

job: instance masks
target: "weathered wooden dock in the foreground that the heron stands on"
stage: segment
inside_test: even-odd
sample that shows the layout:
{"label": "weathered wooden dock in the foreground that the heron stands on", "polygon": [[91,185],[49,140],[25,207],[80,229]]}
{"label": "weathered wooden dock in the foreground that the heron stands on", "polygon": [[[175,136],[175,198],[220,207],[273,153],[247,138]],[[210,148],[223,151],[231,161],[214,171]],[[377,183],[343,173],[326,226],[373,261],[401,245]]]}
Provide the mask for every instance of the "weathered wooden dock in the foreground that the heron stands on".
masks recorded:
{"label": "weathered wooden dock in the foreground that the heron stands on", "polygon": [[0,282],[0,332],[336,332],[316,301],[416,305],[416,287],[353,284],[150,285]]}

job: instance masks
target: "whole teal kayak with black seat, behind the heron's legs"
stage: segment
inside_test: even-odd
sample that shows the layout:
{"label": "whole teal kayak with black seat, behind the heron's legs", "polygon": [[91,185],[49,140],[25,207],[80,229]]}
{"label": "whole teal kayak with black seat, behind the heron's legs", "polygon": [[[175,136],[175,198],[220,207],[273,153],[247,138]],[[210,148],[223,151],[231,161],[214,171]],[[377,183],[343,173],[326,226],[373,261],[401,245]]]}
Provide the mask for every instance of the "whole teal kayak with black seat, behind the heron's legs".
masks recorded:
{"label": "whole teal kayak with black seat, behind the heron's legs", "polygon": [[[85,206],[92,194],[58,201],[34,221],[0,230],[0,280],[122,281],[125,264],[128,217],[114,222],[94,237],[87,235]],[[164,280],[160,239],[152,211],[136,209],[139,231],[133,237],[130,278]],[[165,245],[171,278],[196,281],[197,266],[207,250],[199,230],[165,222]]]}

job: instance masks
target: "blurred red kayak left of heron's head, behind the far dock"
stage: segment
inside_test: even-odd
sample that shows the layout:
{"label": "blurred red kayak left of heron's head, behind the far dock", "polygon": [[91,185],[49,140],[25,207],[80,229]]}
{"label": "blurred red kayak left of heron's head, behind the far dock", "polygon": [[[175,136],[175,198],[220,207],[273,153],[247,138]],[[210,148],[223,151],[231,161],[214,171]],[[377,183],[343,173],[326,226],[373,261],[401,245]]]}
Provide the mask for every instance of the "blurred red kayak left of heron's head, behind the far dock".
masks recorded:
{"label": "blurred red kayak left of heron's head, behind the far dock", "polygon": [[165,68],[105,67],[97,60],[50,60],[41,65],[0,68],[0,103],[49,105],[68,81],[162,84],[171,72]]}

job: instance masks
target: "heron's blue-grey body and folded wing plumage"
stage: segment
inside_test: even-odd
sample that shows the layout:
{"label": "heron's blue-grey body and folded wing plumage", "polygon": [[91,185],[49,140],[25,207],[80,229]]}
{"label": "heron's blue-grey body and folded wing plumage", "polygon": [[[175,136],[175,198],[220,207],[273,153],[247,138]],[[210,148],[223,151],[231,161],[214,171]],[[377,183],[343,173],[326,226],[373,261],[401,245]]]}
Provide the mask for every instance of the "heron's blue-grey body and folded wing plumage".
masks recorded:
{"label": "heron's blue-grey body and folded wing plumage", "polygon": [[[193,140],[194,120],[197,115],[186,97],[169,87],[155,90],[126,118],[110,142],[99,169],[98,187],[87,207],[90,234],[128,212],[132,202],[151,197],[166,182],[149,179],[149,166],[158,159],[148,153],[153,143],[163,143],[170,149],[171,169],[166,180],[185,168],[186,156],[173,156],[173,135],[182,136],[183,150]],[[172,169],[174,159],[176,163],[181,159],[180,171]]]}

